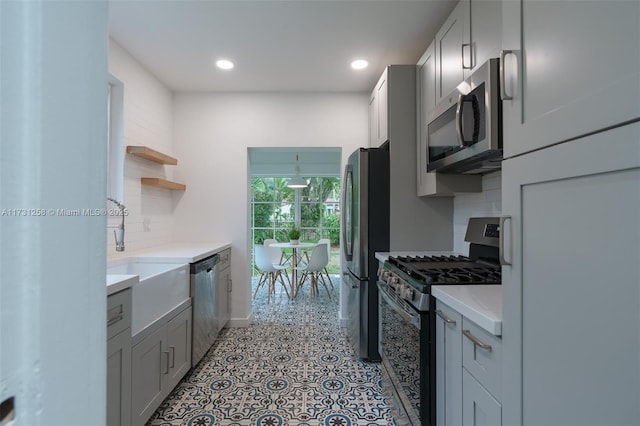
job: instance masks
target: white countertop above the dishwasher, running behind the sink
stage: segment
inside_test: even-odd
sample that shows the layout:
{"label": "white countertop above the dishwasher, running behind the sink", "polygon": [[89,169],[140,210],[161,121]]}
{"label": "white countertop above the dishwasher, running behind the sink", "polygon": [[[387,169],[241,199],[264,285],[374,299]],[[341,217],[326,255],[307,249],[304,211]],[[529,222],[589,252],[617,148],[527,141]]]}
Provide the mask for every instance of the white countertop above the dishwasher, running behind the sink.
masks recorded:
{"label": "white countertop above the dishwasher, running behind the sink", "polygon": [[145,259],[158,258],[157,260],[167,263],[194,263],[229,247],[231,247],[230,243],[220,242],[176,242],[131,252],[109,253],[108,260],[137,257]]}

